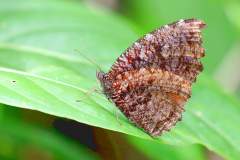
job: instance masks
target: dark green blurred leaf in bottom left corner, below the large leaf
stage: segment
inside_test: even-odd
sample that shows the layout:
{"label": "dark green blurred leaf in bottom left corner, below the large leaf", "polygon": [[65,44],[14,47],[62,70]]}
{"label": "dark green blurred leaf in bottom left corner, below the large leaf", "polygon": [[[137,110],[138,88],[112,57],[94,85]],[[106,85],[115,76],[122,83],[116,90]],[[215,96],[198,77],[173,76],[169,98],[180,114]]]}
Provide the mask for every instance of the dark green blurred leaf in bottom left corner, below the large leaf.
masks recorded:
{"label": "dark green blurred leaf in bottom left corner, below the large leaf", "polygon": [[39,158],[58,160],[96,160],[93,152],[60,136],[54,130],[28,124],[21,119],[10,117],[0,106],[0,158],[26,159],[37,155]]}

